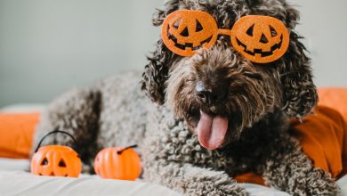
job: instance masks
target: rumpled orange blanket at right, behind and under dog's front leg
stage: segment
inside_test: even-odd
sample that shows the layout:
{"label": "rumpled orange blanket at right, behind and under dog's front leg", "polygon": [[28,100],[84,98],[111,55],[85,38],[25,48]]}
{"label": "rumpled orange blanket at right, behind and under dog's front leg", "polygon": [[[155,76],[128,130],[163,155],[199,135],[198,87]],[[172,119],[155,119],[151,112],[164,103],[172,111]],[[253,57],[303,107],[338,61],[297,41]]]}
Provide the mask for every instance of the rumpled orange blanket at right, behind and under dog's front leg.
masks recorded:
{"label": "rumpled orange blanket at right, behind and under dog's front leg", "polygon": [[[347,124],[341,114],[331,108],[319,106],[315,114],[292,121],[295,137],[303,151],[313,161],[314,167],[330,172],[335,178],[347,174]],[[237,176],[239,183],[264,185],[261,176],[247,173]]]}

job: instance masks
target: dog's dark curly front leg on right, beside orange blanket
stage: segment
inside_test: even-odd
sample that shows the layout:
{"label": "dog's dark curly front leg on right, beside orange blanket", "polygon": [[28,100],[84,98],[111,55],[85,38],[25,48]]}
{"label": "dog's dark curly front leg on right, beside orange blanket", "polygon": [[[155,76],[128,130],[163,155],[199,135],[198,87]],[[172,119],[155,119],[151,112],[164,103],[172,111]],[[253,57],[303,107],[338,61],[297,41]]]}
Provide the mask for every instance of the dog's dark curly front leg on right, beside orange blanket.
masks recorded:
{"label": "dog's dark curly front leg on right, beside orange blanket", "polygon": [[268,185],[292,195],[338,194],[339,188],[332,177],[314,168],[296,141],[278,146],[277,151],[269,153],[271,157],[263,173]]}

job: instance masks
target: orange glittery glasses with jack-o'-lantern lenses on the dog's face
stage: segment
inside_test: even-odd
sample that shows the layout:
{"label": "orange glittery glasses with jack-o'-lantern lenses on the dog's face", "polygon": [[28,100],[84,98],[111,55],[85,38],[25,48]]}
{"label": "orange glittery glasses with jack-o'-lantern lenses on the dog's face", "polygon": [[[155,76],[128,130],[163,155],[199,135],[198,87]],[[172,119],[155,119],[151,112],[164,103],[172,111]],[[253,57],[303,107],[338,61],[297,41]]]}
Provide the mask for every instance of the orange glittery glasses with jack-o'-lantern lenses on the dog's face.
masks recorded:
{"label": "orange glittery glasses with jack-o'-lantern lenses on the dog's face", "polygon": [[249,61],[268,63],[278,60],[289,45],[289,32],[282,21],[270,16],[247,15],[232,29],[218,29],[207,12],[180,10],[164,20],[162,39],[166,47],[181,56],[192,56],[210,49],[218,35],[230,36],[231,45]]}

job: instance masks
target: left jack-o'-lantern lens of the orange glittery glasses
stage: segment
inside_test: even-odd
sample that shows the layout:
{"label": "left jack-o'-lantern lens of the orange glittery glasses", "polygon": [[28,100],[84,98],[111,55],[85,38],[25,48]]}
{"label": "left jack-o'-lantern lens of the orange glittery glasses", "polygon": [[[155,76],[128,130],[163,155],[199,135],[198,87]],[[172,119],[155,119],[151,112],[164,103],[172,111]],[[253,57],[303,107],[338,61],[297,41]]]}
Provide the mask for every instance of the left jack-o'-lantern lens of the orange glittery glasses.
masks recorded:
{"label": "left jack-o'-lantern lens of the orange glittery glasses", "polygon": [[211,48],[217,39],[217,24],[206,12],[176,11],[164,21],[162,37],[173,53],[192,56],[201,48]]}

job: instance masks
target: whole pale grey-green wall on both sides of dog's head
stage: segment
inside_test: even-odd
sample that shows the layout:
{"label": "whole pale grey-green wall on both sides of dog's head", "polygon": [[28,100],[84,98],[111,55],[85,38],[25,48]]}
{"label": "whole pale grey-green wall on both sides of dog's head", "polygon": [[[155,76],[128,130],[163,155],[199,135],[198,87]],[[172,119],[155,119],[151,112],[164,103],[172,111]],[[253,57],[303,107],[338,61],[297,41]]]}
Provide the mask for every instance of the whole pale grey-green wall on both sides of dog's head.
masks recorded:
{"label": "whole pale grey-green wall on both sides of dog's head", "polygon": [[[292,0],[311,50],[318,86],[347,86],[347,1]],[[159,28],[151,14],[162,0],[0,0],[0,107],[49,102],[84,86],[138,69]]]}

